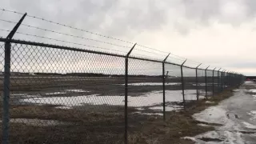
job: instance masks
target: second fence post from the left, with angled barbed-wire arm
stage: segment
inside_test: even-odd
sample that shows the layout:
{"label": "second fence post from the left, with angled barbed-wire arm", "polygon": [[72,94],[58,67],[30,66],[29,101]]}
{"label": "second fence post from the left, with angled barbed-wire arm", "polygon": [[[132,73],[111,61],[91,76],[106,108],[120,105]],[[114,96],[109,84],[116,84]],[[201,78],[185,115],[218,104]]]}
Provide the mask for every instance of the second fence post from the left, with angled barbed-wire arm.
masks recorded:
{"label": "second fence post from the left, with angled barbed-wire arm", "polygon": [[130,51],[126,54],[126,74],[125,74],[125,144],[128,143],[128,58],[132,50],[134,50],[134,46],[130,49]]}

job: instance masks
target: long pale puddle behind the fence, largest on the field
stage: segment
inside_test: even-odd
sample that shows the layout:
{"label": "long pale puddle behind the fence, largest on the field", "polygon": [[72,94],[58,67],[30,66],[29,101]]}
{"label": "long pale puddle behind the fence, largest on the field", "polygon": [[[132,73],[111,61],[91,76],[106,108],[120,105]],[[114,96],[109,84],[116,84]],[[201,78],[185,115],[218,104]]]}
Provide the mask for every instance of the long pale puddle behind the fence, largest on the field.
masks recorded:
{"label": "long pale puddle behind the fence, largest on the field", "polygon": [[[81,91],[81,90],[76,90]],[[196,100],[195,90],[185,90],[186,100]],[[36,97],[36,98],[35,98]],[[203,96],[200,98],[204,98]],[[97,94],[72,97],[39,97],[21,99],[20,102],[37,104],[54,104],[61,106],[113,105],[124,106],[124,96],[98,96]],[[166,90],[166,102],[182,102],[182,90]],[[128,106],[142,107],[162,104],[162,91],[153,91],[138,97],[128,96]],[[174,106],[166,106],[166,111],[174,110]]]}

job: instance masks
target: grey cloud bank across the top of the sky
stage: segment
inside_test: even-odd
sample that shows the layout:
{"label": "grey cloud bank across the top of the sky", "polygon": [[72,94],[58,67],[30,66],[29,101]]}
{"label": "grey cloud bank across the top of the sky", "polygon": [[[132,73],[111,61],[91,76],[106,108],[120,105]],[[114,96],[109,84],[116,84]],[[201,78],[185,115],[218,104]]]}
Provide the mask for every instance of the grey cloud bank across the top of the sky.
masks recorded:
{"label": "grey cloud bank across the top of the sky", "polygon": [[[177,17],[196,21],[196,25],[199,26],[208,26],[210,18],[218,19],[219,22],[230,23],[233,26],[238,26],[242,22],[254,18],[256,12],[254,0],[242,1],[249,11],[244,18],[222,16],[220,7],[225,2],[229,1],[183,0],[181,2],[158,2],[156,0],[87,0],[71,2],[13,0],[10,2],[4,1],[4,4],[9,4],[14,10],[28,12],[31,15],[66,23],[70,26],[98,31],[114,37],[122,37],[125,34],[129,37],[130,31],[132,30],[136,31],[136,33],[140,33],[143,30],[159,30],[162,29],[162,26],[166,26],[167,22],[171,22],[168,24],[174,26],[174,29],[178,30],[181,34],[188,34],[190,29],[194,27],[187,26],[186,23],[177,22],[177,19],[174,22],[169,21],[171,18],[169,17],[168,9],[175,9],[175,7],[178,7],[175,9],[177,10]],[[123,6],[123,3],[127,3],[127,6]],[[162,3],[163,6],[159,6],[159,3]],[[183,9],[179,10],[182,7],[185,10],[184,15],[182,15]],[[107,24],[106,17],[109,17],[112,21],[111,25]],[[100,26],[103,26],[103,28]]]}

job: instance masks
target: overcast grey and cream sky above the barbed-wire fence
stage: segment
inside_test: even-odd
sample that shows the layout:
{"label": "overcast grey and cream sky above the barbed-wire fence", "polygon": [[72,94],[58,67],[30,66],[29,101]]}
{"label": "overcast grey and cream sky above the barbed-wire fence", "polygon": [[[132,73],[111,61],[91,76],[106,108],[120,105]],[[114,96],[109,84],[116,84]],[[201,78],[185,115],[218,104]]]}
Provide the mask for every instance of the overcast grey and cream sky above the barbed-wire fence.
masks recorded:
{"label": "overcast grey and cream sky above the barbed-wire fence", "polygon": [[[255,0],[2,0],[1,7],[138,42],[212,67],[256,75]],[[0,11],[0,18],[17,22],[20,17]],[[50,26],[32,18],[26,18],[24,23],[96,38],[60,26]],[[0,22],[0,26],[2,29],[12,27],[5,22]],[[28,31],[25,28],[20,30]],[[33,30],[32,33],[70,42],[82,41],[42,31]],[[1,36],[4,33],[1,32]],[[106,41],[104,38],[101,40]],[[107,42],[118,43],[110,40]],[[122,44],[132,46],[124,42]],[[164,58],[166,54],[158,54],[157,57]]]}

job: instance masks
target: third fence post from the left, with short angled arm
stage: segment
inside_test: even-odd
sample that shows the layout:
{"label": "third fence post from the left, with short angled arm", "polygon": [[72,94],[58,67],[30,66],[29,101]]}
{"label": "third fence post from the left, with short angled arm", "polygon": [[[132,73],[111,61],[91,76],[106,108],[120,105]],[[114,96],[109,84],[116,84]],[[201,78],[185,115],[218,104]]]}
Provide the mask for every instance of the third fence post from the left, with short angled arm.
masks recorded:
{"label": "third fence post from the left, with short angled arm", "polygon": [[[163,121],[166,121],[166,78],[165,78],[165,62],[170,54],[162,61],[162,113]],[[167,74],[166,74],[167,77]]]}

